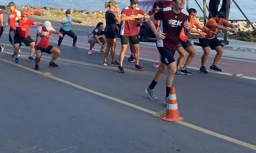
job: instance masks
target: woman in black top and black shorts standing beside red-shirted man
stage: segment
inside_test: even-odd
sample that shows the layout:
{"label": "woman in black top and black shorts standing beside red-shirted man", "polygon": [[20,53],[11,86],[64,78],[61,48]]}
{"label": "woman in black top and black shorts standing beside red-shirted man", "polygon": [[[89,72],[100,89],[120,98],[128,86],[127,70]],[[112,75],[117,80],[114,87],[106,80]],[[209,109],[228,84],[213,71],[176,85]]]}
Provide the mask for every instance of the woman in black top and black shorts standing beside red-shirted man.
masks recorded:
{"label": "woman in black top and black shorts standing beside red-shirted man", "polygon": [[104,29],[104,35],[106,38],[106,50],[105,50],[105,58],[103,65],[108,65],[108,56],[111,49],[111,57],[112,57],[112,66],[119,66],[119,63],[115,60],[115,48],[116,48],[116,23],[120,22],[120,14],[119,8],[117,7],[116,1],[110,0],[105,3],[105,9],[109,8],[106,11],[105,19],[106,19],[106,27]]}

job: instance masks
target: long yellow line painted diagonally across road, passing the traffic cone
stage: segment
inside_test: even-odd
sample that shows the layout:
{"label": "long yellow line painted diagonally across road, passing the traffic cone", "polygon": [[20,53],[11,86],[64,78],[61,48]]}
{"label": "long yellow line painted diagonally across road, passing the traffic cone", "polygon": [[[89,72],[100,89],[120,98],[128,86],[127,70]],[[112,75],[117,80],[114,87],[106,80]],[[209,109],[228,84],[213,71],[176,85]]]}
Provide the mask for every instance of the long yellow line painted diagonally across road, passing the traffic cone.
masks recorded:
{"label": "long yellow line painted diagonally across road, passing the traffic cone", "polygon": [[[31,68],[26,67],[26,66],[23,66],[23,65],[15,64],[15,63],[10,62],[10,61],[5,60],[5,59],[0,59],[0,60],[1,60],[1,61],[4,61],[4,62],[7,62],[7,63],[10,63],[10,64],[12,64],[12,65],[15,65],[15,66],[24,68],[24,69],[26,69],[26,70],[29,70],[29,71],[38,73],[38,74],[41,74],[41,73],[42,73],[42,72],[40,72],[40,71],[31,69]],[[79,85],[74,84],[74,83],[71,83],[71,82],[69,82],[69,81],[66,81],[66,80],[63,80],[63,79],[54,77],[54,76],[52,76],[52,75],[48,75],[48,76],[46,76],[46,77],[51,78],[51,79],[56,80],[56,81],[59,81],[59,82],[62,82],[62,83],[64,83],[64,84],[67,84],[67,85],[76,87],[76,88],[81,89],[81,90],[83,90],[83,91],[87,91],[87,92],[90,92],[90,93],[92,93],[92,94],[95,94],[95,95],[98,95],[98,96],[101,96],[101,97],[104,97],[104,98],[107,98],[107,99],[116,101],[117,103],[120,103],[120,104],[123,104],[123,105],[126,105],[126,106],[130,106],[130,107],[132,107],[132,108],[141,110],[141,111],[143,111],[143,112],[146,112],[146,113],[149,113],[149,114],[152,114],[152,115],[155,115],[155,114],[157,113],[157,112],[155,112],[155,111],[151,111],[151,110],[145,109],[145,108],[143,108],[143,107],[140,107],[140,106],[137,106],[137,105],[128,103],[128,102],[126,102],[126,101],[124,101],[124,100],[121,100],[121,99],[118,99],[118,98],[115,98],[115,97],[112,97],[112,96],[109,96],[109,95],[106,95],[106,94],[103,94],[103,93],[100,93],[100,92],[97,92],[97,91],[88,89],[88,88],[85,88],[85,87],[82,87],[82,86],[79,86]],[[179,124],[182,124],[182,125],[184,125],[184,126],[190,127],[191,129],[195,129],[195,130],[200,131],[200,132],[203,132],[203,133],[205,133],[205,134],[208,134],[208,135],[211,135],[211,136],[215,136],[215,137],[224,139],[224,140],[226,140],[226,141],[233,142],[233,143],[239,144],[239,145],[241,145],[241,146],[245,146],[245,147],[247,147],[247,148],[256,150],[256,146],[255,146],[255,145],[252,145],[252,144],[249,144],[249,143],[246,143],[246,142],[243,142],[243,141],[240,141],[240,140],[231,138],[231,137],[227,137],[227,136],[225,136],[225,135],[218,134],[218,133],[216,133],[216,132],[209,131],[209,130],[204,129],[204,128],[202,128],[202,127],[199,127],[199,126],[196,126],[196,125],[193,125],[193,124],[184,122],[184,121],[177,121],[176,123],[179,123]]]}

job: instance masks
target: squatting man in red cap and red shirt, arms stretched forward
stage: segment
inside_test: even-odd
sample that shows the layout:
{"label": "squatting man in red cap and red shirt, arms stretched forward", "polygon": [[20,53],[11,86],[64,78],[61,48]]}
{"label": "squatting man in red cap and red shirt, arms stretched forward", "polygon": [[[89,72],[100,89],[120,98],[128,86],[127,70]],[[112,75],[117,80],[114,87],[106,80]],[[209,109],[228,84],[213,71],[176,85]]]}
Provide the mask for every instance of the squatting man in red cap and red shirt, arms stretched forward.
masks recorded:
{"label": "squatting man in red cap and red shirt, arms stretched forward", "polygon": [[19,47],[22,46],[22,42],[26,46],[31,46],[30,49],[30,56],[29,61],[35,61],[35,59],[32,57],[35,52],[35,42],[34,40],[29,36],[29,28],[30,25],[42,25],[40,22],[35,22],[31,19],[28,19],[27,12],[22,12],[22,18],[18,19],[15,22],[16,32],[14,34],[14,54],[15,54],[15,61],[14,63],[18,62],[18,50]]}

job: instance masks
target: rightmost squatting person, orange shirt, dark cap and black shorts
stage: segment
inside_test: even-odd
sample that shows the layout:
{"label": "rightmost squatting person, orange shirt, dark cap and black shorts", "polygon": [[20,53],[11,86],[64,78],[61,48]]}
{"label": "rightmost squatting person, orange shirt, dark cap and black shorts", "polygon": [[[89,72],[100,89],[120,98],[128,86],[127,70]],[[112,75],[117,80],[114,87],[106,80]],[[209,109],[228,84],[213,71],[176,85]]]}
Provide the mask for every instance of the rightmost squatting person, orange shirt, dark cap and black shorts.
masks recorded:
{"label": "rightmost squatting person, orange shirt, dark cap and black shorts", "polygon": [[[213,31],[217,34],[220,32],[220,30],[229,31],[229,32],[236,34],[237,33],[236,27],[234,27],[234,25],[232,23],[229,23],[224,18],[225,18],[225,13],[223,11],[219,11],[217,13],[216,17],[212,17],[207,21],[205,27],[207,27],[210,31]],[[229,27],[231,29],[226,28],[226,27]],[[212,50],[215,49],[217,52],[217,54],[214,58],[214,62],[210,66],[210,70],[221,72],[222,69],[220,69],[219,67],[216,66],[223,54],[223,49],[222,49],[220,40],[218,40],[216,36],[213,36],[213,35],[210,35],[209,33],[207,33],[207,35],[205,35],[205,38],[202,36],[199,36],[199,43],[204,50],[204,54],[202,55],[202,61],[201,61],[202,65],[199,69],[199,72],[208,73],[205,68],[205,62],[206,62],[207,57],[210,52],[209,46]]]}

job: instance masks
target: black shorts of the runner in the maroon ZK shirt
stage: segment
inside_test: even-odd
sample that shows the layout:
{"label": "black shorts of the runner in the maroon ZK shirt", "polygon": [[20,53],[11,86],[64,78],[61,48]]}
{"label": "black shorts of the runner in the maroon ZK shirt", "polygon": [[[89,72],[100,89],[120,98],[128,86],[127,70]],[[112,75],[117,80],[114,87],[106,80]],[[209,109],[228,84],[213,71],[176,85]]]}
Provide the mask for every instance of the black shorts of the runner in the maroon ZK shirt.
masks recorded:
{"label": "black shorts of the runner in the maroon ZK shirt", "polygon": [[169,47],[157,47],[157,49],[161,55],[161,62],[164,63],[166,66],[168,66],[170,63],[175,62],[175,50],[172,50]]}

